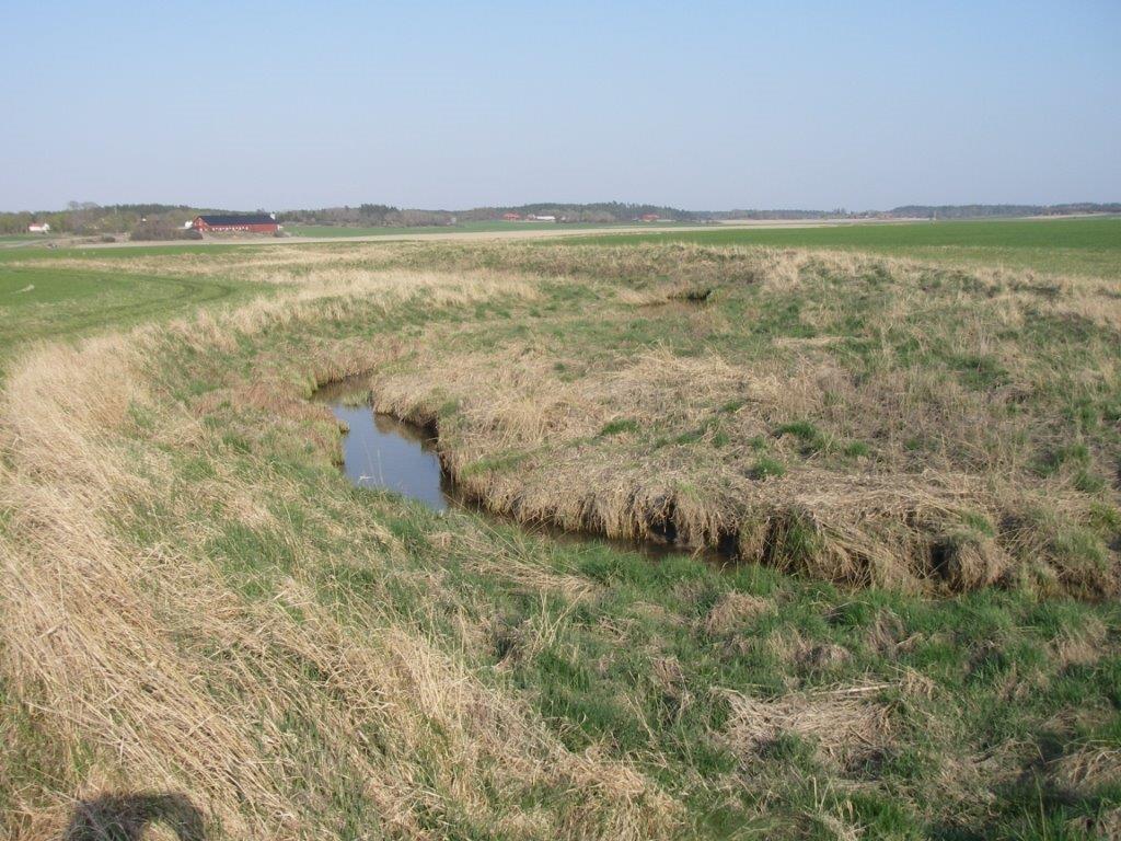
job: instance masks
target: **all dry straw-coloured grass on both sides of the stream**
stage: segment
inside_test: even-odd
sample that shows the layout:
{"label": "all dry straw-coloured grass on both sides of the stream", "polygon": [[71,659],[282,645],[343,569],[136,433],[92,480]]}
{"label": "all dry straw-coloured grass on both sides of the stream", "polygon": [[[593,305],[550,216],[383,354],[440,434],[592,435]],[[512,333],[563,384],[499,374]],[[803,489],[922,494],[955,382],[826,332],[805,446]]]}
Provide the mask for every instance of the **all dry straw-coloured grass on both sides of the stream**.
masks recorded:
{"label": "all dry straw-coloured grass on both sides of the stream", "polygon": [[[424,261],[432,266],[411,265]],[[368,247],[128,265],[230,272],[279,288],[231,313],[35,349],[8,375],[0,675],[58,754],[48,763],[53,776],[18,793],[6,826],[19,838],[57,837],[78,800],[149,789],[186,795],[215,837],[335,837],[354,829],[343,825],[348,810],[372,837],[441,838],[463,826],[509,838],[688,833],[687,804],[649,773],[669,767],[668,751],[571,749],[571,722],[547,720],[531,692],[503,680],[566,645],[562,631],[604,585],[546,567],[517,539],[482,526],[442,524],[428,536],[436,552],[539,602],[530,620],[507,630],[501,617],[470,617],[447,594],[439,564],[410,565],[411,549],[365,503],[339,495],[331,511],[305,505],[306,488],[271,464],[268,436],[303,436],[325,462],[337,441],[324,410],[305,400],[317,382],[364,372],[380,409],[438,426],[442,459],[466,492],[520,520],[612,536],[673,533],[685,546],[734,542],[744,560],[846,585],[946,593],[1026,584],[1044,595],[1115,589],[1115,548],[1100,566],[1064,566],[1054,539],[1099,516],[1115,490],[1080,490],[1069,471],[1032,474],[1028,445],[1016,442],[1039,443],[1031,438],[1039,417],[1008,410],[1047,386],[1055,367],[1003,330],[1039,313],[1109,327],[1121,313],[1092,280],[1059,279],[1057,292],[1040,297],[1018,287],[1036,278],[970,275],[947,293],[960,322],[934,338],[915,329],[930,313],[934,294],[924,284],[938,279],[927,267],[850,255]],[[589,279],[601,272],[621,279]],[[862,327],[877,341],[870,372],[856,377],[842,355],[851,312],[830,284],[869,275],[896,292],[879,323]],[[710,286],[719,287],[717,304],[743,286],[761,288],[765,301],[804,296],[797,325],[816,334],[744,350],[729,339],[748,332],[736,321],[742,313],[680,304]],[[562,298],[568,309],[545,322],[559,335],[510,329],[488,309],[519,307],[528,318],[572,289],[583,297]],[[478,323],[452,317],[476,306]],[[680,308],[667,317],[660,306]],[[444,317],[363,332],[365,322],[396,323],[409,307]],[[614,332],[592,335],[585,322]],[[648,322],[666,336],[637,352],[604,346]],[[671,330],[695,352],[679,352]],[[999,392],[971,389],[920,364],[889,364],[900,330],[920,344],[944,341],[962,355],[998,359],[1009,382]],[[1118,373],[1108,349],[1094,353],[1076,371],[1090,386]],[[167,360],[182,370],[161,369]],[[192,372],[219,364],[207,388],[192,390]],[[238,427],[235,413],[260,428]],[[776,433],[797,418],[819,427],[819,449]],[[226,442],[230,431],[250,440]],[[934,443],[915,455],[911,436]],[[785,460],[784,474],[753,471],[758,438]],[[849,440],[876,442],[877,458],[837,462]],[[1087,463],[1109,463],[1108,441],[1091,443]],[[252,472],[221,458],[237,446],[251,454]],[[198,475],[187,469],[192,460],[204,462]],[[220,520],[280,547],[282,572],[260,588],[267,597],[253,588],[262,572],[245,573],[247,583],[223,567]],[[328,542],[315,539],[321,532]],[[344,590],[342,604],[325,601],[318,573],[346,564],[374,583],[361,594]],[[409,588],[425,595],[419,613],[455,628],[453,641],[390,609],[391,592]],[[602,623],[621,649],[642,620],[634,613]],[[680,628],[735,648],[742,628],[780,613],[762,597],[723,594]],[[869,646],[896,657],[920,644],[895,625],[884,611]],[[509,651],[480,666],[478,650],[500,632],[513,638]],[[1053,655],[1064,668],[1092,666],[1094,649],[1110,645],[1091,623],[1056,638]],[[790,629],[760,648],[806,673],[852,658]],[[701,704],[689,665],[659,654],[642,675],[670,710],[663,721],[636,708],[651,734]],[[843,769],[902,738],[884,696],[921,695],[925,680],[904,671],[892,683],[830,691],[791,683],[768,697],[722,687],[730,715],[710,736],[742,763],[735,774],[789,737],[809,745],[814,761]],[[1034,675],[1003,680],[1008,703],[1043,685]],[[1055,774],[1078,787],[1115,760],[1111,748],[1087,745]],[[978,785],[1000,774],[978,770]],[[713,785],[748,786],[736,779]],[[822,792],[810,811],[837,834],[853,834],[852,808]]]}

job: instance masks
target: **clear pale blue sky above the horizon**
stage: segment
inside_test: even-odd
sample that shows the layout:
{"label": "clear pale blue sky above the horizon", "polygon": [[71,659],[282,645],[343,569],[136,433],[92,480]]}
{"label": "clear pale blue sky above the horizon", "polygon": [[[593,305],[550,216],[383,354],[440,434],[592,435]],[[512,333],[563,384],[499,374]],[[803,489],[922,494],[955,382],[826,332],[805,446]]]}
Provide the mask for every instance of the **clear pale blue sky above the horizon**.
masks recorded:
{"label": "clear pale blue sky above the horizon", "polygon": [[1121,201],[1121,0],[0,0],[0,210]]}

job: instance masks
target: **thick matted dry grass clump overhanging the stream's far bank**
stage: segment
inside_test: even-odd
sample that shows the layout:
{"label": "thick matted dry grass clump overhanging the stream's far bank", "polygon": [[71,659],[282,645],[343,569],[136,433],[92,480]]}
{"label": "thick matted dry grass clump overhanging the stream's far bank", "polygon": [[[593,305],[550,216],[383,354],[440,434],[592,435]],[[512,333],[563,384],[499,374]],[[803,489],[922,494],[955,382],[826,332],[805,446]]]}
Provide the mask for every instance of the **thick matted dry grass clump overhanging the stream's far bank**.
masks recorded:
{"label": "thick matted dry grass clump overhanging the stream's far bank", "polygon": [[[651,452],[629,446],[627,435],[599,435],[618,418],[637,428],[703,428],[712,407],[735,396],[743,404],[729,422],[735,434],[770,438],[780,419],[819,408],[821,382],[817,375],[784,382],[773,368],[741,368],[715,354],[658,351],[563,382],[548,357],[522,349],[452,360],[421,352],[405,372],[388,369],[371,380],[379,410],[439,426],[445,468],[491,510],[610,537],[670,535],[686,547],[734,538],[744,560],[852,585],[991,585],[1048,552],[1016,528],[998,535],[967,524],[1013,523],[1044,505],[1085,516],[1087,502],[1075,496],[999,484],[1010,459],[989,451],[989,475],[954,464],[837,472],[810,461],[759,481],[750,450]],[[441,418],[450,400],[455,414]],[[1097,594],[1117,586],[1108,570],[1083,583]]]}

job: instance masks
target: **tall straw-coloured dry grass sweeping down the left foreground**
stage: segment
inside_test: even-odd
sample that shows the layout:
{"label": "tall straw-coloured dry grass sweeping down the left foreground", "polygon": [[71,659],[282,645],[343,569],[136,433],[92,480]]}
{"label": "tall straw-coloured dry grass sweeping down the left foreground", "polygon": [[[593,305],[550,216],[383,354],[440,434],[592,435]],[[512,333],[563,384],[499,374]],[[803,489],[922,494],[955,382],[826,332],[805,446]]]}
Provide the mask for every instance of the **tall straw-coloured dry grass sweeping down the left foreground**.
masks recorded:
{"label": "tall straw-coloured dry grass sweeping down the left foreground", "polygon": [[[378,290],[393,294],[392,284]],[[260,304],[172,330],[204,345],[305,316],[299,303]],[[387,837],[438,838],[416,815],[446,810],[511,837],[642,839],[674,825],[674,804],[641,775],[567,751],[521,701],[377,604],[341,623],[298,571],[281,600],[245,601],[207,556],[205,523],[184,523],[174,547],[129,540],[121,526],[175,481],[158,447],[133,451],[130,412],[157,412],[158,436],[178,446],[212,434],[151,396],[151,341],[141,331],[34,352],[0,404],[3,674],[82,769],[56,782],[49,805],[43,792],[17,804],[21,838],[57,837],[74,797],[149,788],[187,794],[231,838],[330,834],[346,789],[376,804]],[[232,477],[204,491],[249,525],[284,493]],[[392,548],[377,545],[365,561],[385,564]],[[294,720],[316,740],[294,738]],[[510,807],[543,786],[572,794],[548,813]]]}

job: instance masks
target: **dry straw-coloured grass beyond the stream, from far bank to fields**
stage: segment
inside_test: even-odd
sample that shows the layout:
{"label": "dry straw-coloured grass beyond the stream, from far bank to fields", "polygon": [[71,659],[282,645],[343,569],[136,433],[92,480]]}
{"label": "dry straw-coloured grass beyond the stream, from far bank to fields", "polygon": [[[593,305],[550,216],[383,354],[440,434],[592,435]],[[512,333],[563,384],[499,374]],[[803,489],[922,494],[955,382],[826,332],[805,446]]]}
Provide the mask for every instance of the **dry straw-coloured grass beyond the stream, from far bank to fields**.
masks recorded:
{"label": "dry straw-coloured grass beyond the stream, from far bank to fields", "polygon": [[[122,265],[101,262],[104,268]],[[436,327],[416,344],[395,341],[372,355],[356,349],[335,352],[352,354],[348,373],[362,370],[362,360],[365,368],[378,368],[372,386],[381,410],[434,424],[442,405],[456,403],[454,423],[441,429],[445,465],[469,493],[522,520],[613,537],[646,538],[671,528],[685,546],[734,538],[745,557],[850,583],[970,589],[1028,576],[1044,589],[1103,593],[1118,586],[1109,569],[1074,569],[1047,557],[1046,542],[1025,527],[1039,510],[1085,521],[1087,500],[1072,492],[1069,472],[1046,482],[1031,475],[1038,452],[1016,443],[1038,437],[1044,423],[1017,407],[1058,377],[1018,333],[1040,318],[1113,329],[1121,323],[1121,299],[1105,281],[1003,269],[956,270],[947,279],[946,271],[933,274],[918,262],[851,252],[671,244],[543,250],[382,243],[136,257],[124,265],[152,274],[222,274],[291,289],[280,301],[241,311],[238,329],[252,329],[261,318],[294,329],[344,317],[354,301],[371,297],[423,297],[430,306],[497,294],[531,302],[541,299],[541,284],[550,278],[592,278],[600,298],[593,311],[605,322],[636,312],[668,316],[688,324],[708,346],[695,357],[647,348],[638,357],[585,366],[578,378],[558,376],[557,366],[582,366],[582,353],[558,355],[540,338],[464,352],[451,340],[454,332]],[[626,281],[603,284],[601,277]],[[661,279],[651,283],[650,277]],[[856,376],[844,357],[853,338],[846,326],[852,305],[835,294],[835,283],[869,277],[883,278],[891,294],[870,326],[880,344],[865,363],[872,373]],[[722,285],[734,289],[730,284],[735,283],[758,286],[765,299],[796,295],[799,324],[816,335],[779,335],[775,352],[732,359],[716,349],[717,342],[705,342],[736,330],[721,307],[658,306],[707,296]],[[330,303],[291,307],[293,296]],[[952,322],[947,308],[958,311]],[[918,329],[924,318],[937,318],[937,330]],[[200,348],[231,341],[214,325],[192,326],[189,333],[198,336],[192,341]],[[921,353],[991,360],[985,364],[1007,372],[1006,385],[978,390],[934,367],[901,367],[895,361],[899,334]],[[386,364],[395,360],[400,363]],[[321,366],[318,379],[327,368]],[[1080,378],[1078,388],[1101,389],[1121,377],[1121,362],[1115,353],[1095,351],[1082,372],[1066,376]],[[733,447],[768,438],[791,419],[814,418],[832,436],[826,446],[877,442],[876,463],[837,472],[823,469],[814,456],[760,483],[749,470],[756,456],[742,446],[722,452],[668,447],[652,454],[641,445],[629,450],[623,436],[622,445],[602,458],[610,447],[591,442],[615,420],[687,432],[730,399],[742,404],[722,425]],[[918,455],[914,441],[924,442]],[[1047,441],[1036,444],[1038,450]],[[784,460],[798,459],[803,449],[789,436],[775,446]],[[517,471],[479,469],[513,454]],[[1092,456],[1110,470],[1108,453]],[[994,539],[962,528],[963,520],[1013,527]],[[805,551],[790,552],[791,540]]]}

